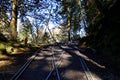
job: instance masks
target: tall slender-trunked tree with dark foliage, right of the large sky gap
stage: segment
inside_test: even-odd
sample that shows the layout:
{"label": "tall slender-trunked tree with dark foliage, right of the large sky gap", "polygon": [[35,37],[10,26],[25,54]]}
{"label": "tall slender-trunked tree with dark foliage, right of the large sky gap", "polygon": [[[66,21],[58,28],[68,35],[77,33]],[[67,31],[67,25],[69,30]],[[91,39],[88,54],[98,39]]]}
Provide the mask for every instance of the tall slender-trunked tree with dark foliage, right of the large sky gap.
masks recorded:
{"label": "tall slender-trunked tree with dark foliage, right of the large sky gap", "polygon": [[80,29],[80,5],[79,0],[62,1],[60,14],[67,18],[68,43],[71,41],[71,31],[77,32]]}

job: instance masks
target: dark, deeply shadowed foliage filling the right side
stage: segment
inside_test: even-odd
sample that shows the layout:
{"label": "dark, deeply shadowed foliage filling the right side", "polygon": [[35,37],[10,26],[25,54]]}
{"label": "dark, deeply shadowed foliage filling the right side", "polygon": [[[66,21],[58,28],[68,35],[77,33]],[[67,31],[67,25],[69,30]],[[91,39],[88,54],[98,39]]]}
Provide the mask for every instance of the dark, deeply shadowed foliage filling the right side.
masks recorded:
{"label": "dark, deeply shadowed foliage filling the right side", "polygon": [[81,42],[104,55],[110,61],[109,64],[118,64],[120,61],[119,0],[93,0],[86,3],[87,36],[82,38]]}

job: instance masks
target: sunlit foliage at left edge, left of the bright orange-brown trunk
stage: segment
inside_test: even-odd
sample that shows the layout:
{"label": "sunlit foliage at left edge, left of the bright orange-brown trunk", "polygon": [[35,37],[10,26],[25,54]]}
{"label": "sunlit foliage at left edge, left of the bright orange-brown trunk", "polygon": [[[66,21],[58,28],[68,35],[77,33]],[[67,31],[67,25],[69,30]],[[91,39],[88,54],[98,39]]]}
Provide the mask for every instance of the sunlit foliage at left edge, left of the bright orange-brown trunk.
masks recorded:
{"label": "sunlit foliage at left edge, left of the bright orange-brown trunk", "polygon": [[0,33],[3,34],[8,40],[10,38],[9,17],[7,13],[10,10],[10,1],[0,1]]}

